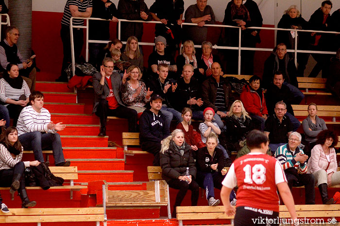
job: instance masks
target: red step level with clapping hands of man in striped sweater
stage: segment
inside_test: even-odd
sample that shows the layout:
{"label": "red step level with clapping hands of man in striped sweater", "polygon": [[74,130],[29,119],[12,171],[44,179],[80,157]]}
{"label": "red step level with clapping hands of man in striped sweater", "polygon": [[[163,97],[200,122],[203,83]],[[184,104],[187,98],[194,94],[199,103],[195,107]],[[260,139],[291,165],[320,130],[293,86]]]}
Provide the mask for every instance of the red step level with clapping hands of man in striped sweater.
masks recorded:
{"label": "red step level with clapping hands of man in striped sweater", "polygon": [[65,124],[66,128],[60,132],[60,135],[80,135],[80,136],[97,136],[100,125],[85,125],[85,124]]}

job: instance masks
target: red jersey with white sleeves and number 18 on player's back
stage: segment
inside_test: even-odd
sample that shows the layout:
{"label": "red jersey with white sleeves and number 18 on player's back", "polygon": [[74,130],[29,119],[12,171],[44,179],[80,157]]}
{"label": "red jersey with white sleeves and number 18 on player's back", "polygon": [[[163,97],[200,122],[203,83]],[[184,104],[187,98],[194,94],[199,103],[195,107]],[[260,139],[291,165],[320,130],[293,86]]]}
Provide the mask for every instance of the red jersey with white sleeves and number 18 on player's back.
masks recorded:
{"label": "red jersey with white sleeves and number 18 on player's back", "polygon": [[236,206],[279,212],[276,184],[287,181],[280,163],[272,156],[249,153],[236,159],[222,184],[238,185]]}

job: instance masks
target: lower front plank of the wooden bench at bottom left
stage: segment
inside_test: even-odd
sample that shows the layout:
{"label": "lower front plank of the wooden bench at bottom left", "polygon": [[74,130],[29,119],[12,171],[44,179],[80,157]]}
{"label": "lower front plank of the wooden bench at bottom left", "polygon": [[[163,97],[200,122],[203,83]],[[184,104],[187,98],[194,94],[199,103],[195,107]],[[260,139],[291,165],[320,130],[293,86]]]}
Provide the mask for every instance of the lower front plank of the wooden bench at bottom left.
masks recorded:
{"label": "lower front plank of the wooden bench at bottom left", "polygon": [[5,223],[37,223],[37,222],[86,222],[104,221],[104,214],[88,215],[42,215],[42,216],[5,216]]}

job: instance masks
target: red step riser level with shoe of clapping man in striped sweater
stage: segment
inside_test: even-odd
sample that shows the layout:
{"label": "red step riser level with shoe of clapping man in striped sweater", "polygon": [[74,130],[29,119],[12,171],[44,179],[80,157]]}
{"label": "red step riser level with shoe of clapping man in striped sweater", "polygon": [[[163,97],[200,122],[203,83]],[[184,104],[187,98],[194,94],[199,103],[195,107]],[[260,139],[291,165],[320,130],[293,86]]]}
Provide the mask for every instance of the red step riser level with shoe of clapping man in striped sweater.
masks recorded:
{"label": "red step riser level with shoe of clapping man in striped sweater", "polygon": [[124,159],[65,159],[78,170],[124,170]]}

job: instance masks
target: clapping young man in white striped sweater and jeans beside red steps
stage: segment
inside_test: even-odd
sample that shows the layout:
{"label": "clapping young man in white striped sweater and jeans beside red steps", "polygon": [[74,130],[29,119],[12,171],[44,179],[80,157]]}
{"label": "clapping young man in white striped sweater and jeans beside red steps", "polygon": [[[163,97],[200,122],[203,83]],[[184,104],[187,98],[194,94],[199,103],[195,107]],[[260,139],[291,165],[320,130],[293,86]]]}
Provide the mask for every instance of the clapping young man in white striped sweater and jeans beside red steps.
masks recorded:
{"label": "clapping young man in white striped sweater and jeans beside red steps", "polygon": [[17,121],[19,141],[25,150],[33,150],[34,159],[45,163],[43,149],[53,151],[55,166],[69,166],[61,146],[58,131],[65,129],[62,122],[53,123],[51,114],[44,106],[44,94],[33,91],[30,95],[30,105],[24,107]]}

